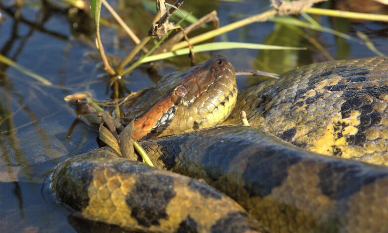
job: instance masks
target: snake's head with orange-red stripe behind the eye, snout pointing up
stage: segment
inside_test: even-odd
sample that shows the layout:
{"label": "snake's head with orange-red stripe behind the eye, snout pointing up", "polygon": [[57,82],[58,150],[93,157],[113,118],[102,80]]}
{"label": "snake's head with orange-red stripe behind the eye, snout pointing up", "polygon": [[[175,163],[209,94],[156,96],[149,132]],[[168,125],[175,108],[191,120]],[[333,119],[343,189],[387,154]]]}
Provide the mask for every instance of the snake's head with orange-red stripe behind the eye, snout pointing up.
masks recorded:
{"label": "snake's head with orange-red stripe behind the eye, snout pointing up", "polygon": [[[229,116],[237,97],[234,68],[216,56],[158,85],[166,94],[135,119],[134,137],[155,138],[207,127]],[[155,88],[155,91],[161,88]]]}

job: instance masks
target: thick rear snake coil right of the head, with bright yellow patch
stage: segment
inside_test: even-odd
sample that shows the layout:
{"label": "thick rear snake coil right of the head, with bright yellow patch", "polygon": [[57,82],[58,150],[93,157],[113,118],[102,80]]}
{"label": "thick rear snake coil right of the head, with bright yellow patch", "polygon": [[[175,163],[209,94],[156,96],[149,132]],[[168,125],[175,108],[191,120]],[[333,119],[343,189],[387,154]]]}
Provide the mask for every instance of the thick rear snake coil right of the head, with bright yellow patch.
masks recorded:
{"label": "thick rear snake coil right of the head, with bright yellow patch", "polygon": [[325,155],[388,165],[388,57],[315,63],[241,93],[225,123]]}

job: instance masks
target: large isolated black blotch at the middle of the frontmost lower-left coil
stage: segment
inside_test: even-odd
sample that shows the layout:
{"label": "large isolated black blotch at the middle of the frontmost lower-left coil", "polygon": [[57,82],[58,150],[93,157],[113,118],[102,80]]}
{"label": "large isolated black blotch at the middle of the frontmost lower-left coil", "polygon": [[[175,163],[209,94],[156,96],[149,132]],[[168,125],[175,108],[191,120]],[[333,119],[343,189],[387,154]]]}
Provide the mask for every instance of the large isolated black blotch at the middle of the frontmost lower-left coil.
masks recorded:
{"label": "large isolated black blotch at the middle of the frontmost lower-left coil", "polygon": [[143,174],[136,180],[125,201],[139,225],[151,227],[160,225],[160,219],[168,218],[166,208],[175,195],[172,177]]}

